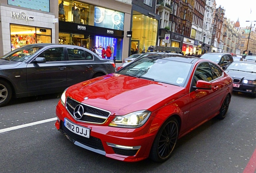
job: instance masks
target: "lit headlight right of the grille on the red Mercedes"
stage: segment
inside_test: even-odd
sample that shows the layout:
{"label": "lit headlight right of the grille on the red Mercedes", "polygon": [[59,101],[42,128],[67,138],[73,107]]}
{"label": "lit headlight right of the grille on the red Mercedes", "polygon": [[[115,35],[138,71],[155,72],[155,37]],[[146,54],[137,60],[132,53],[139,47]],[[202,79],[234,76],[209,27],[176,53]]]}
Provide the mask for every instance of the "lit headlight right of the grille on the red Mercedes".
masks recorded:
{"label": "lit headlight right of the grille on the red Mercedes", "polygon": [[142,110],[129,113],[123,116],[116,116],[109,126],[113,127],[124,127],[124,128],[137,128],[144,125],[149,116],[151,115],[150,111]]}

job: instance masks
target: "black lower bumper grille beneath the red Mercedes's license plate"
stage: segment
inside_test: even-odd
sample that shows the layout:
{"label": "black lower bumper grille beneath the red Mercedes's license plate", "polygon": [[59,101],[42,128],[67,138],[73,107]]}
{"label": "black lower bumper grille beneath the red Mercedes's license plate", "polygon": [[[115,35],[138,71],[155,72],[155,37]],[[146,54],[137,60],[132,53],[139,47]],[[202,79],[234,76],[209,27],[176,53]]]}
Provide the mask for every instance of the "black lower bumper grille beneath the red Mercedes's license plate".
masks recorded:
{"label": "black lower bumper grille beneath the red Mercedes's license plate", "polygon": [[77,135],[73,132],[71,132],[70,130],[68,130],[65,126],[64,126],[64,122],[61,121],[61,124],[60,124],[60,129],[62,129],[63,131],[65,131],[70,137],[72,137],[75,141],[83,144],[83,145],[86,145],[88,147],[91,147],[91,148],[94,148],[94,149],[99,149],[99,150],[102,150],[102,151],[105,151],[104,150],[104,147],[102,145],[102,142],[99,138],[96,138],[96,137],[92,137],[90,136],[90,138],[86,138],[86,137],[82,137],[80,135]]}

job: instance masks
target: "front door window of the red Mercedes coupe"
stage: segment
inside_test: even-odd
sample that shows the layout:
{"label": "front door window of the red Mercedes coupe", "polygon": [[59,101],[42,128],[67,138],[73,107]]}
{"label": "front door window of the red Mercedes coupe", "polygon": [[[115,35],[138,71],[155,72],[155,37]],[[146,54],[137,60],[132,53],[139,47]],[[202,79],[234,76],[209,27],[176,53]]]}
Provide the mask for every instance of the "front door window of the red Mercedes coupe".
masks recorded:
{"label": "front door window of the red Mercedes coupe", "polygon": [[208,62],[199,64],[194,74],[194,80],[195,82],[198,80],[204,80],[206,82],[213,80],[212,71]]}

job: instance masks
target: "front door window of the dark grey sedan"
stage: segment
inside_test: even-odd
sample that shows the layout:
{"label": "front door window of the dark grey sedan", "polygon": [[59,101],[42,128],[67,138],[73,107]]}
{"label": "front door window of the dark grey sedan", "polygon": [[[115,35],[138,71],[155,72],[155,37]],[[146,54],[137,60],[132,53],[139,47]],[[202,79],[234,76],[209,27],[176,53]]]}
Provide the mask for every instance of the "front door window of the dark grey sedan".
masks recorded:
{"label": "front door window of the dark grey sedan", "polygon": [[43,51],[38,57],[45,58],[46,62],[63,61],[64,49],[63,47],[50,48]]}

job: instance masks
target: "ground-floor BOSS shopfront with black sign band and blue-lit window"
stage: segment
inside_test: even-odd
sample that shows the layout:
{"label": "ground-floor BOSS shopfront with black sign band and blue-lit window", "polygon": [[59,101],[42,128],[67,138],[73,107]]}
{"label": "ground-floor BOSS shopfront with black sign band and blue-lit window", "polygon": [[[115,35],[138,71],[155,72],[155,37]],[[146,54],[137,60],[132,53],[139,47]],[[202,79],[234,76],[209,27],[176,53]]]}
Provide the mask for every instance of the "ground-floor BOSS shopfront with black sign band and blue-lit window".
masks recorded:
{"label": "ground-floor BOSS shopfront with black sign band and blue-lit window", "polygon": [[114,52],[111,59],[122,60],[123,30],[59,21],[59,43],[84,46],[88,49],[96,46],[101,55],[102,48],[110,46]]}

